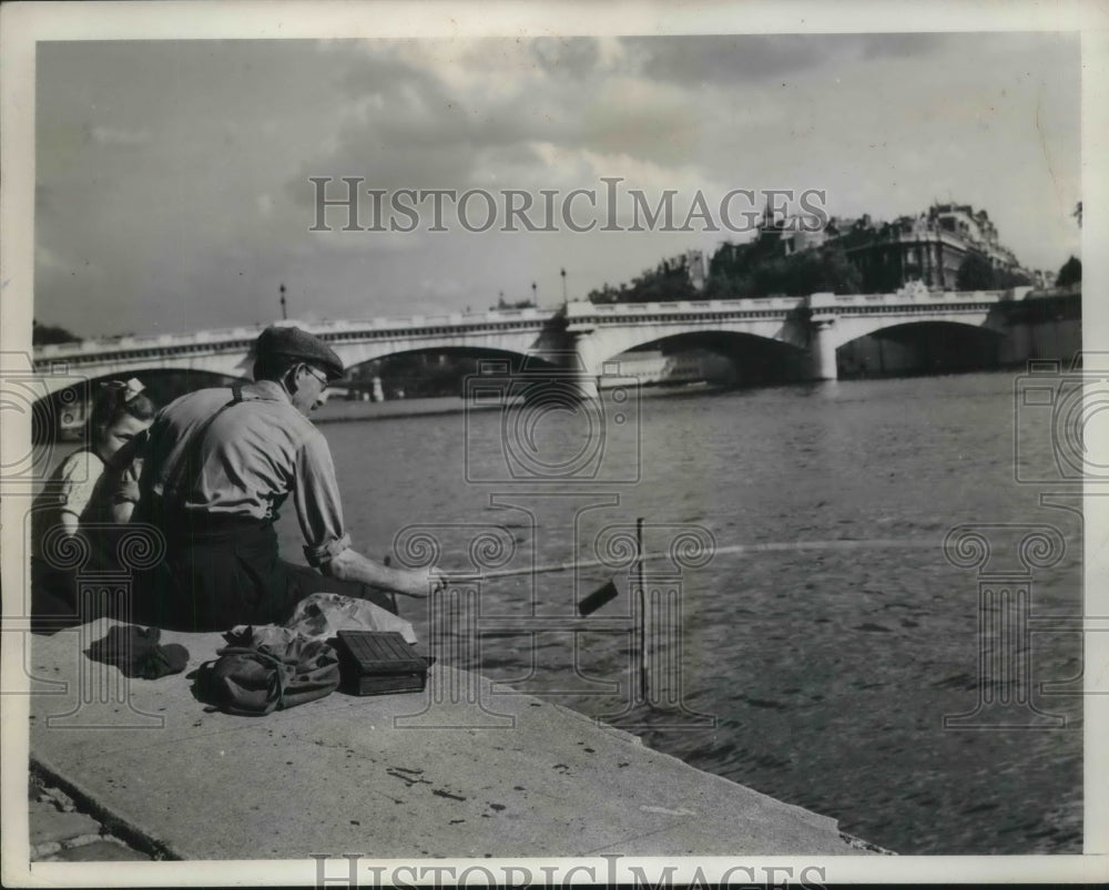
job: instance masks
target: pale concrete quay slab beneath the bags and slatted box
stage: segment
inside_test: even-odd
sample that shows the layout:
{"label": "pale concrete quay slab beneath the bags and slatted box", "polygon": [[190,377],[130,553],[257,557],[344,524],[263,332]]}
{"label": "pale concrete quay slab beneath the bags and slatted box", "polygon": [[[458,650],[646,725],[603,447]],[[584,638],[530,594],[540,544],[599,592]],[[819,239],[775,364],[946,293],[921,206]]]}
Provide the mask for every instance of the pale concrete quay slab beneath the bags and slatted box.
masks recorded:
{"label": "pale concrete quay slab beneath the bags and slatted box", "polygon": [[113,623],[33,637],[31,758],[157,858],[886,852],[625,730],[531,695],[490,696],[487,678],[444,665],[423,695],[206,712],[187,675],[220,634],[163,632],[190,651],[185,673],[126,681],[83,654]]}

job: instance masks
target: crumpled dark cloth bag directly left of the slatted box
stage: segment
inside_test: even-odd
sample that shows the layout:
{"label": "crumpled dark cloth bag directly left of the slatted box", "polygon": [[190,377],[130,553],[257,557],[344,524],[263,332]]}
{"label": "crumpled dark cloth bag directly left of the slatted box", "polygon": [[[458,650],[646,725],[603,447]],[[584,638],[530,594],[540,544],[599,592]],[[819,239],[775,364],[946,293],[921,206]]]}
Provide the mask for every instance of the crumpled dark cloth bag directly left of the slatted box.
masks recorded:
{"label": "crumpled dark cloth bag directly left of the slatted box", "polygon": [[[233,645],[218,649],[214,662],[201,665],[195,690],[202,702],[227,714],[262,716],[314,702],[338,688],[338,655],[322,640],[297,633],[255,637],[253,628],[232,631],[224,637]],[[255,638],[268,642],[252,645]]]}

